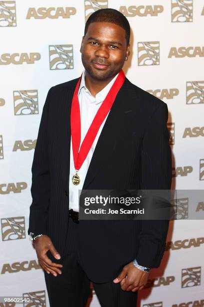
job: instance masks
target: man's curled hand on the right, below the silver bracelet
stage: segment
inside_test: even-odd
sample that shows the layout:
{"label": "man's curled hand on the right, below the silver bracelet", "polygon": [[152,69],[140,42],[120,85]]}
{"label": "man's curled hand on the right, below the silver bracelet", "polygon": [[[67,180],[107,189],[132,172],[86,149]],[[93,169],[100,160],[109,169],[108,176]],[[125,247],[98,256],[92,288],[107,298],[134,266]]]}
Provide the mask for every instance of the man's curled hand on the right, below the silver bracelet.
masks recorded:
{"label": "man's curled hand on the right, below the silver bracelet", "polygon": [[136,268],[132,262],[126,264],[121,273],[113,280],[114,283],[120,282],[122,290],[135,292],[143,289],[147,283],[149,272]]}

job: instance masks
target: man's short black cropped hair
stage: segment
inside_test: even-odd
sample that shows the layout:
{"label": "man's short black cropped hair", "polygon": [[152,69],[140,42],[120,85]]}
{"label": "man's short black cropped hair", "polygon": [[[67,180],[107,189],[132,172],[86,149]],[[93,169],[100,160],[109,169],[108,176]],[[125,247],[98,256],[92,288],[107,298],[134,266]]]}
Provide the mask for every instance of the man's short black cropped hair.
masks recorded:
{"label": "man's short black cropped hair", "polygon": [[122,13],[114,9],[100,9],[95,11],[93,14],[91,14],[88,17],[85,23],[84,36],[86,35],[88,26],[91,23],[96,23],[96,22],[111,23],[123,28],[125,31],[125,39],[127,45],[129,44],[130,26],[128,20]]}

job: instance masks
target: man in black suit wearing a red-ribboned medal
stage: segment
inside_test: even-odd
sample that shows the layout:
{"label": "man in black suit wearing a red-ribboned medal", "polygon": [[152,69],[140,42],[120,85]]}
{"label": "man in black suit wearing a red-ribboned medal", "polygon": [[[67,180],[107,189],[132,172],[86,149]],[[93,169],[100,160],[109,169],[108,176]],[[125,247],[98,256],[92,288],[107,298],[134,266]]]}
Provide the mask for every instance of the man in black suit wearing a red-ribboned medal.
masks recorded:
{"label": "man in black suit wearing a red-ribboned medal", "polygon": [[52,87],[43,107],[28,233],[51,307],[85,306],[90,281],[102,307],[135,307],[165,249],[168,220],[78,222],[80,189],[170,189],[167,106],[124,77],[129,35],[118,11],[94,12],[80,48],[85,71]]}

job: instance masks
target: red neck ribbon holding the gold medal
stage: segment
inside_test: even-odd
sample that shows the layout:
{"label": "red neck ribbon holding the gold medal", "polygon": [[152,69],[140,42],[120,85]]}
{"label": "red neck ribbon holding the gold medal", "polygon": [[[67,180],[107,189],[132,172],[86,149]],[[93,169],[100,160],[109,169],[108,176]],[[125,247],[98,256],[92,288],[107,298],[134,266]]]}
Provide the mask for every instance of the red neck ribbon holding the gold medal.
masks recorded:
{"label": "red neck ribbon holding the gold medal", "polygon": [[[73,151],[73,162],[75,170],[79,170],[81,165],[83,164],[85,158],[88,155],[90,147],[97,135],[98,129],[101,126],[103,120],[105,119],[106,115],[108,114],[115,97],[124,83],[124,73],[120,70],[117,78],[115,79],[113,85],[111,86],[107,96],[105,97],[104,101],[102,102],[101,106],[97,110],[95,117],[81,143],[80,146],[80,138],[81,138],[81,125],[80,125],[80,107],[78,102],[78,88],[80,85],[80,80],[78,80],[71,103],[71,141],[72,141],[72,151]],[[80,146],[80,150],[78,151]]]}

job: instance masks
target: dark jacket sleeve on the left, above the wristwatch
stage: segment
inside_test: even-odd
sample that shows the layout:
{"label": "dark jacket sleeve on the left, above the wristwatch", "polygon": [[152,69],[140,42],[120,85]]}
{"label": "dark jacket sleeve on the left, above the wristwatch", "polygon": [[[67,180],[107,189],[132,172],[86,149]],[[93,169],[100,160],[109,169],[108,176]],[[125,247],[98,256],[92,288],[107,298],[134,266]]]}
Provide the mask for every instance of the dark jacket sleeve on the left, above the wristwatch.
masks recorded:
{"label": "dark jacket sleeve on the left, above the wristwatch", "polygon": [[48,91],[35,145],[32,163],[32,203],[29,215],[29,232],[46,234],[46,220],[49,209],[50,176],[48,159],[48,105],[51,89]]}

